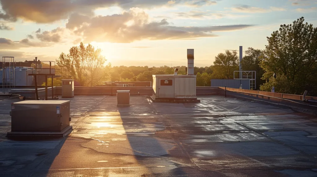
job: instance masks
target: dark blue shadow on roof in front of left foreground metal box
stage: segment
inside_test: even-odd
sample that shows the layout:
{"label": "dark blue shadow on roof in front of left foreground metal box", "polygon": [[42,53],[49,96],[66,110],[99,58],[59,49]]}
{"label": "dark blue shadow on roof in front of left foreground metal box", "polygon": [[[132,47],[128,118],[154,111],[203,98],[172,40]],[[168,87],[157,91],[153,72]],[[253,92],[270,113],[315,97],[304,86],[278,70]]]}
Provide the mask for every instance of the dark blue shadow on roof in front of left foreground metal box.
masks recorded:
{"label": "dark blue shadow on roof in front of left foreground metal box", "polygon": [[[2,177],[47,176],[66,138],[14,137],[0,142]],[[44,163],[43,163],[44,162]]]}

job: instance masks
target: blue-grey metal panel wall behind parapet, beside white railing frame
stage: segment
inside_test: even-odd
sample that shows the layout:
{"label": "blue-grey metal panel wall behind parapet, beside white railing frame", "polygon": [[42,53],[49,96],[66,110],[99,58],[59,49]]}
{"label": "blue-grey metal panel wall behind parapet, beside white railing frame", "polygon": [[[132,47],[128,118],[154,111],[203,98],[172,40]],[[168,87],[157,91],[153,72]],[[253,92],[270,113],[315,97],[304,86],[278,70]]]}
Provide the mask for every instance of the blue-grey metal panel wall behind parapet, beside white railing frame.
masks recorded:
{"label": "blue-grey metal panel wall behind parapet, beside white railing frame", "polygon": [[242,84],[243,89],[250,90],[250,80],[244,79],[212,79],[211,86],[212,87],[225,87],[228,88],[240,88]]}

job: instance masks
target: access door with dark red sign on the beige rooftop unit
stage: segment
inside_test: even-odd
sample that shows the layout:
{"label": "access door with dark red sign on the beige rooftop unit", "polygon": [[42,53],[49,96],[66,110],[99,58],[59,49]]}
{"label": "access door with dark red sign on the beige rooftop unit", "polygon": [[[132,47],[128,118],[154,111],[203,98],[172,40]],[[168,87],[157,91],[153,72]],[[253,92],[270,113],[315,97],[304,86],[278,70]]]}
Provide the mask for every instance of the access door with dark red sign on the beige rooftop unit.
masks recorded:
{"label": "access door with dark red sign on the beige rooftop unit", "polygon": [[174,98],[174,78],[159,79],[159,98]]}

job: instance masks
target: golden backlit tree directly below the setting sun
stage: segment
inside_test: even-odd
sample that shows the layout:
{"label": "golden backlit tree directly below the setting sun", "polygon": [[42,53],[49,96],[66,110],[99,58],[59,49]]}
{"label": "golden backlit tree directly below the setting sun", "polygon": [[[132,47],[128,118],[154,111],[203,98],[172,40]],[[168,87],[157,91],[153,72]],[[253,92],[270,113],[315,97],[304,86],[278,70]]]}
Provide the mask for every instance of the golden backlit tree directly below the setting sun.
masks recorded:
{"label": "golden backlit tree directly below the setting sun", "polygon": [[103,66],[107,60],[100,53],[100,49],[95,49],[91,44],[85,47],[81,42],[79,46],[72,47],[69,54],[61,53],[57,65],[81,86],[95,86],[107,77]]}

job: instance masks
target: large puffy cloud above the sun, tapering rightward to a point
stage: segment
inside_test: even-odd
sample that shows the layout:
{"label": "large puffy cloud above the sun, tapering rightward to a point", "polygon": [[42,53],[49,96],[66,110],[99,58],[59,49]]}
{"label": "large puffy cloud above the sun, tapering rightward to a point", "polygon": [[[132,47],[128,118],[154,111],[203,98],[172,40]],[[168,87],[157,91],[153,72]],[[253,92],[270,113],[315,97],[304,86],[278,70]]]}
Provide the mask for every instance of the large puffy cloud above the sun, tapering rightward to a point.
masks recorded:
{"label": "large puffy cloud above the sun, tapering rightward to a point", "polygon": [[[80,19],[73,19],[80,18]],[[84,19],[84,20],[83,20]],[[148,15],[132,8],[122,14],[83,17],[72,15],[67,27],[81,36],[84,42],[131,43],[137,40],[195,39],[217,36],[212,32],[239,30],[253,25],[176,27],[166,19],[149,21]]]}

